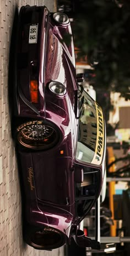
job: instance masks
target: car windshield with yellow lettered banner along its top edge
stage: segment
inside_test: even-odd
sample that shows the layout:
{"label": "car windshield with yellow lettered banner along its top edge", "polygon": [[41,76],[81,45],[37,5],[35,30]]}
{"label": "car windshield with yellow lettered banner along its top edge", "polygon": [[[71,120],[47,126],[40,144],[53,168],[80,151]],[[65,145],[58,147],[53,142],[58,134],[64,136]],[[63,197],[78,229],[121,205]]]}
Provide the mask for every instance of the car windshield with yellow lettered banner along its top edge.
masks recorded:
{"label": "car windshield with yellow lettered banner along its top edge", "polygon": [[79,98],[79,130],[76,159],[101,164],[104,153],[104,116],[101,107],[84,90]]}

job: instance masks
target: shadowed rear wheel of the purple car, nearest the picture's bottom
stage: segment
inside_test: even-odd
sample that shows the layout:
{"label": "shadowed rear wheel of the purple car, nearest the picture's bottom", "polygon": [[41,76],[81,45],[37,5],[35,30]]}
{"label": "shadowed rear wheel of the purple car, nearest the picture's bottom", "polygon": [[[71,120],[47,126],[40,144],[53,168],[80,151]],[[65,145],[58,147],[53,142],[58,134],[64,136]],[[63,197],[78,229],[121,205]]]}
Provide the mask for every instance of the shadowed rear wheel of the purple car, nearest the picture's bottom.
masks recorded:
{"label": "shadowed rear wheel of the purple car, nearest the picture's bottom", "polygon": [[25,243],[39,250],[52,250],[66,243],[66,235],[51,227],[32,226],[25,223],[23,229]]}

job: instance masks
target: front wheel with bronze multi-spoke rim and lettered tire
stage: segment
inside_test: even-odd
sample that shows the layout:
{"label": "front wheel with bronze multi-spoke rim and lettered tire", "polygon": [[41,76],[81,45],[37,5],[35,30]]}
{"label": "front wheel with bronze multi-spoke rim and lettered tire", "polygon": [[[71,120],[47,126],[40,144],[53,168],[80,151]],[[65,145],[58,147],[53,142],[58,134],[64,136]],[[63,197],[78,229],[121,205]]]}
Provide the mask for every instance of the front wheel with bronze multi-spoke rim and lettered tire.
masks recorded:
{"label": "front wheel with bronze multi-spoke rim and lettered tire", "polygon": [[31,120],[17,126],[17,143],[26,149],[47,150],[60,139],[58,128],[43,120]]}

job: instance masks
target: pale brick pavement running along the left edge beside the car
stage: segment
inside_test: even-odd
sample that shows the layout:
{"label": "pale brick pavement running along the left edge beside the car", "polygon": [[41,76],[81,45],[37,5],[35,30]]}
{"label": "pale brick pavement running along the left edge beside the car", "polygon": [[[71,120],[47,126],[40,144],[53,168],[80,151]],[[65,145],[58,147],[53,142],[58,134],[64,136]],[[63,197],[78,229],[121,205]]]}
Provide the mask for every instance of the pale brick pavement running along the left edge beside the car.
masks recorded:
{"label": "pale brick pavement running along the left edge beside the car", "polygon": [[52,252],[35,250],[24,244],[22,237],[19,177],[10,131],[8,64],[15,8],[25,4],[45,4],[50,11],[56,11],[56,0],[0,0],[0,255],[59,256],[63,248]]}

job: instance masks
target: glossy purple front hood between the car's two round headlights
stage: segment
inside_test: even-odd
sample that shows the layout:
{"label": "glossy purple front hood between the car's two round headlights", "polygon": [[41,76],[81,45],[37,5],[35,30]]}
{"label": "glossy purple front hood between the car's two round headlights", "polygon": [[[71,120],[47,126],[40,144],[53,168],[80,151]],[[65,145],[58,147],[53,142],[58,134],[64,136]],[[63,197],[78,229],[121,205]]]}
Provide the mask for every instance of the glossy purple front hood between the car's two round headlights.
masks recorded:
{"label": "glossy purple front hood between the car's two round headlights", "polygon": [[[66,87],[67,96],[69,97],[71,105],[74,106],[74,93],[75,91],[77,91],[77,82],[75,72],[73,39],[71,40],[69,46],[63,43],[63,29],[65,28],[57,27],[51,24],[51,19],[49,19],[46,32],[46,50],[44,49],[44,65],[41,61],[41,70],[42,66],[44,67],[44,91],[42,91],[41,93],[45,92],[46,103],[55,103],[56,97],[53,97],[52,93],[48,93],[48,84],[51,81],[61,82]],[[67,31],[68,33],[71,33],[71,27],[69,24],[68,27],[66,27],[65,31],[66,33]],[[43,50],[41,50],[40,55],[43,56]],[[56,105],[58,105],[59,107],[62,107],[61,104],[61,100],[56,102]]]}

